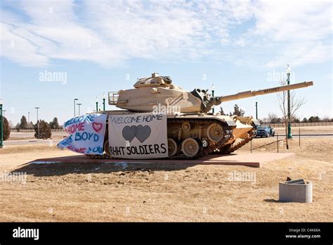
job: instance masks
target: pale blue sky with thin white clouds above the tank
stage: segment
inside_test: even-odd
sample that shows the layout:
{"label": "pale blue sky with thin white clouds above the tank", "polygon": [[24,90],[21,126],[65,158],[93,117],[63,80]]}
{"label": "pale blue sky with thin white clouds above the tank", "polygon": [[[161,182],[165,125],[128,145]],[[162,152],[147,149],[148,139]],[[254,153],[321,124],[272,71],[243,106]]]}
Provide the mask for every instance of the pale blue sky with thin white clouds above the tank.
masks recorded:
{"label": "pale blue sky with thin white clouds above the tank", "polygon": [[[137,78],[168,75],[185,90],[218,96],[313,81],[297,89],[296,113],[333,117],[332,1],[1,0],[0,99],[13,125],[22,115],[60,123]],[[278,96],[237,103],[245,115],[282,116]],[[116,109],[106,106],[107,110]],[[219,106],[216,106],[218,111]],[[30,112],[30,113],[29,113]],[[76,106],[78,113],[78,106]]]}

